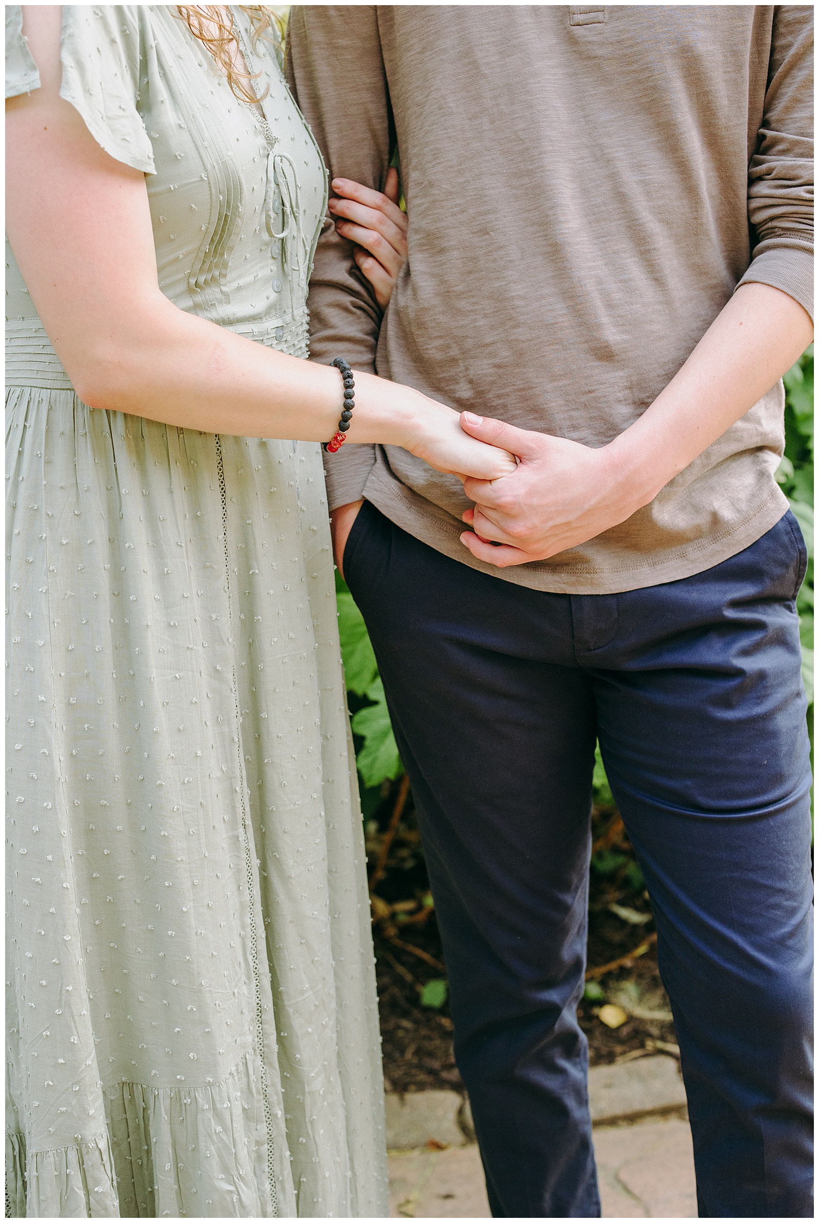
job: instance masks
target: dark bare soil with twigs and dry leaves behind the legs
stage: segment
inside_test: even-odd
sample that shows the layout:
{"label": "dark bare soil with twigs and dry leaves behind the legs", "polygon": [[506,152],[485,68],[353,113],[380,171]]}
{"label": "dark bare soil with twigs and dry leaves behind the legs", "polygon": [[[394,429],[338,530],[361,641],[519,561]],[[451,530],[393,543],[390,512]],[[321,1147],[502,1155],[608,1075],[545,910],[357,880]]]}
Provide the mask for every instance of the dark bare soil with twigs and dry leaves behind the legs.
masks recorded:
{"label": "dark bare soil with twigs and dry leaves behind the legs", "polygon": [[[405,783],[386,783],[381,795],[370,795],[365,804],[387,1090],[463,1091],[453,1057],[448,999],[435,1005],[444,991],[439,985],[430,986],[446,980],[446,969],[413,797],[404,791]],[[657,974],[651,909],[613,808],[595,810],[593,838],[591,981],[578,1009],[590,1063],[630,1060],[657,1047],[672,1052],[667,1047],[676,1046],[676,1035]],[[599,969],[604,971],[596,972]],[[599,1018],[606,1004],[621,1009],[613,1015],[606,1010],[607,1018],[627,1016],[617,1027]]]}

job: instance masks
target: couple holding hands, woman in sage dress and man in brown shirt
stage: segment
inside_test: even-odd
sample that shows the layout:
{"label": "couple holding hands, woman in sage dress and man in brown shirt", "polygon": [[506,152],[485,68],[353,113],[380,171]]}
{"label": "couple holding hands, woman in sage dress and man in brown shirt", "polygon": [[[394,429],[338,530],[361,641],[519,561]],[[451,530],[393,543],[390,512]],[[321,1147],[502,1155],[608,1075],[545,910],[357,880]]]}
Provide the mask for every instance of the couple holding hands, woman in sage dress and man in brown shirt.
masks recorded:
{"label": "couple holding hands, woman in sage dress and man in brown shirt", "polygon": [[387,1213],[334,549],[493,1214],[600,1214],[599,740],[699,1212],[808,1217],[774,473],[812,10],[295,7],[279,43],[261,6],[6,11],[9,1212]]}

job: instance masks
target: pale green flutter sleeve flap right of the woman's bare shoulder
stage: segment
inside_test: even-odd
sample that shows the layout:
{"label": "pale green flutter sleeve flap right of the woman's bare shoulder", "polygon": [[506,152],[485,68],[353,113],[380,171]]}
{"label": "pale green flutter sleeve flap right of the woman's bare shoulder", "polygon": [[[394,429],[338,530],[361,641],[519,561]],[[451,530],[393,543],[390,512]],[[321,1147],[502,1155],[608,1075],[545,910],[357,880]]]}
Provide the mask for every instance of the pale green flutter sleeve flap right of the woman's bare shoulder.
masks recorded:
{"label": "pale green flutter sleeve flap right of the woman's bare shoulder", "polygon": [[62,6],[60,97],[80,111],[107,153],[154,174],[153,148],[137,109],[141,51],[140,6]]}

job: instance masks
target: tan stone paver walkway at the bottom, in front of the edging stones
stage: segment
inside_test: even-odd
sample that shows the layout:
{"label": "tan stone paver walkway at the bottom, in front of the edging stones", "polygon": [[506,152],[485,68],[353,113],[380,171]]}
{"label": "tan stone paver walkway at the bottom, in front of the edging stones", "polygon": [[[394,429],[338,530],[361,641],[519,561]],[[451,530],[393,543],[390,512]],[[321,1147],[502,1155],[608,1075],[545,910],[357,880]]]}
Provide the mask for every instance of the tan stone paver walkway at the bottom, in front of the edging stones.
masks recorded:
{"label": "tan stone paver walkway at the bottom, in front of the edging stones", "polygon": [[[688,1121],[648,1118],[594,1131],[604,1218],[695,1218]],[[392,1218],[488,1218],[477,1147],[389,1156]]]}

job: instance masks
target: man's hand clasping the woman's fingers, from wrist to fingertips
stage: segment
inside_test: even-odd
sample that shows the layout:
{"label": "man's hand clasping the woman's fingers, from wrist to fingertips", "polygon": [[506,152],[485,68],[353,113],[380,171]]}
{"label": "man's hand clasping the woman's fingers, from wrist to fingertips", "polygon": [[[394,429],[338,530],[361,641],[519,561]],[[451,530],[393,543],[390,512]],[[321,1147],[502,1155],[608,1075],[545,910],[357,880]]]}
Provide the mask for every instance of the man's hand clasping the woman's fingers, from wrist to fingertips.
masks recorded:
{"label": "man's hand clasping the woman's fingers, from wrist to fingertips", "polygon": [[626,486],[618,478],[606,446],[593,450],[471,412],[462,413],[460,424],[471,437],[520,460],[510,476],[464,482],[466,497],[477,505],[463,515],[475,533],[465,531],[460,541],[479,560],[498,569],[574,548],[651,499],[651,490],[645,490],[644,501],[634,483]]}

